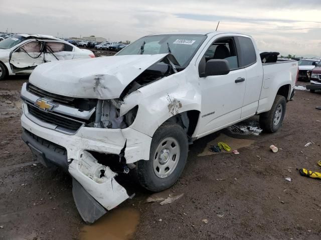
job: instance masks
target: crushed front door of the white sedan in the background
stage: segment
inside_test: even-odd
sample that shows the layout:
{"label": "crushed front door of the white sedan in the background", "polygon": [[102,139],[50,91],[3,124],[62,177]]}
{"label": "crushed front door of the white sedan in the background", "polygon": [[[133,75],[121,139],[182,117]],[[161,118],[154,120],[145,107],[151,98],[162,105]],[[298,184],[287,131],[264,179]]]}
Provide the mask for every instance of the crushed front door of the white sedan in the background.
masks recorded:
{"label": "crushed front door of the white sedan in the background", "polygon": [[43,42],[23,44],[11,53],[9,62],[14,73],[30,74],[36,66],[44,63]]}

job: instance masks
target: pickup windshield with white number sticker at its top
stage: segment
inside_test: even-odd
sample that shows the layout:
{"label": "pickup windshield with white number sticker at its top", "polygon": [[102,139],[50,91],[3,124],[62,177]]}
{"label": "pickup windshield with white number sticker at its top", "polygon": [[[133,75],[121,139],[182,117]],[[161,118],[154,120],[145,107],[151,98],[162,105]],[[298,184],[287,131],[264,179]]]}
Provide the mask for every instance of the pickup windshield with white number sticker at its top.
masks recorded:
{"label": "pickup windshield with white number sticker at its top", "polygon": [[206,35],[172,34],[144,36],[116,55],[172,53],[181,67],[186,67]]}

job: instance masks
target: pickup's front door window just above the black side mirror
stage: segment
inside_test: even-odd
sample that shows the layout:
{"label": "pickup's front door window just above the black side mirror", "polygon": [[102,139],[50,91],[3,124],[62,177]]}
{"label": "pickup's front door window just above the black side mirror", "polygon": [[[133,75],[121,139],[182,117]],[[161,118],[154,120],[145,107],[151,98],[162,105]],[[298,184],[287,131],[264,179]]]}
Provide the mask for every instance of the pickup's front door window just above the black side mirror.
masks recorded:
{"label": "pickup's front door window just above the black side mirror", "polygon": [[210,59],[225,59],[229,62],[230,69],[239,67],[236,47],[233,37],[224,37],[217,39],[207,49],[204,54],[205,60]]}

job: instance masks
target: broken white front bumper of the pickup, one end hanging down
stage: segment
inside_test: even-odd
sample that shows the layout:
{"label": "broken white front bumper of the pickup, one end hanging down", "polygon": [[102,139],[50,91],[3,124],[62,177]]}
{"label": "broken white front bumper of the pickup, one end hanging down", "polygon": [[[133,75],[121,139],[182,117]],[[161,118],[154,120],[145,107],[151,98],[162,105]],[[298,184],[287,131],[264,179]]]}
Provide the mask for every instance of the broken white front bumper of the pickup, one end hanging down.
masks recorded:
{"label": "broken white front bumper of the pickup, one end hanging down", "polygon": [[73,195],[86,222],[95,221],[105,213],[105,208],[110,210],[129,197],[125,188],[115,180],[116,173],[100,164],[89,151],[110,154],[123,151],[126,163],[132,163],[149,158],[151,137],[130,127],[82,126],[75,134],[68,135],[44,127],[44,122],[44,125],[34,122],[36,119],[29,114],[26,103],[23,103],[23,110],[22,139],[45,166],[62,167],[73,176],[74,182],[77,181],[73,184],[77,189],[73,189]]}

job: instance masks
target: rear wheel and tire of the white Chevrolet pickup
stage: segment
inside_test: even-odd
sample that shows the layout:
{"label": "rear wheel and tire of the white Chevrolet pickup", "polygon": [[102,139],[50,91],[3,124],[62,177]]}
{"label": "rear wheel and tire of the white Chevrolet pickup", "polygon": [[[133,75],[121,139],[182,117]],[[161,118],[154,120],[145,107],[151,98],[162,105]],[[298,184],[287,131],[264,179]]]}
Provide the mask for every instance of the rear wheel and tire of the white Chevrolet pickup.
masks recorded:
{"label": "rear wheel and tire of the white Chevrolet pickup", "polygon": [[285,97],[276,95],[271,110],[260,114],[260,127],[267,132],[276,132],[282,125],[285,110]]}

